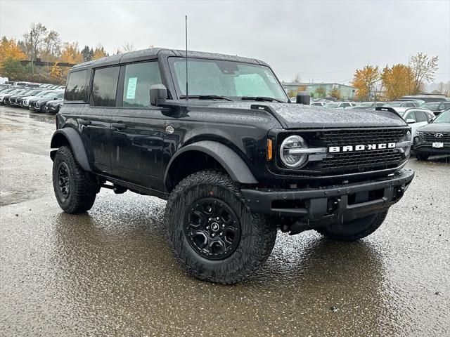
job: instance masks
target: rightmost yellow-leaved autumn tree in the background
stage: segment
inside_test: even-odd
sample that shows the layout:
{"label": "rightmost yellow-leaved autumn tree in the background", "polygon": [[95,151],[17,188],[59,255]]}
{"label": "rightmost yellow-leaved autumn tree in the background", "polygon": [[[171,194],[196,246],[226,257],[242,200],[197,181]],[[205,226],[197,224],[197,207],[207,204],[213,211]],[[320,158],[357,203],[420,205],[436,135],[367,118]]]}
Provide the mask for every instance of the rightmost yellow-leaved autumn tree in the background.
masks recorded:
{"label": "rightmost yellow-leaved autumn tree in the background", "polygon": [[420,93],[426,82],[435,79],[438,57],[428,58],[425,53],[417,53],[409,58],[409,67],[413,73],[414,87],[412,93]]}

